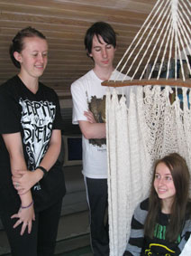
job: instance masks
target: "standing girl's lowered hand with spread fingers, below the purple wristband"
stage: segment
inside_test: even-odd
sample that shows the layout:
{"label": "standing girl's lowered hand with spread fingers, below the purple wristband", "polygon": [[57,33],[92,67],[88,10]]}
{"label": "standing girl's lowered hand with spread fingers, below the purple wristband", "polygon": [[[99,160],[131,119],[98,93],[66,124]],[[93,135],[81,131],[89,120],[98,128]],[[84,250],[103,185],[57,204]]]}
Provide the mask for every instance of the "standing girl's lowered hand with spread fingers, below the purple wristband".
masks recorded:
{"label": "standing girl's lowered hand with spread fingers, below the purple wristband", "polygon": [[14,224],[14,228],[22,224],[22,230],[20,232],[21,235],[23,235],[25,229],[28,227],[28,233],[32,232],[32,221],[35,221],[35,214],[33,205],[29,208],[19,209],[19,212],[11,216],[12,219],[18,218],[16,223]]}

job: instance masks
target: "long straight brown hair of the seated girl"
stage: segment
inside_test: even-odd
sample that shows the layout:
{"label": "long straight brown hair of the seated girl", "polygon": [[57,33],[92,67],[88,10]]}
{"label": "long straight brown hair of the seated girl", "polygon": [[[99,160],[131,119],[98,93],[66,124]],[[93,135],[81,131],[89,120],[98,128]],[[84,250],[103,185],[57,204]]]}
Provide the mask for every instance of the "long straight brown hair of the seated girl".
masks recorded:
{"label": "long straight brown hair of the seated girl", "polygon": [[186,161],[177,153],[172,153],[168,156],[165,156],[155,163],[150,188],[150,206],[144,225],[144,232],[146,235],[150,236],[150,238],[153,238],[158,214],[159,211],[161,211],[161,199],[159,199],[159,196],[154,188],[155,172],[159,163],[164,163],[166,166],[168,166],[176,189],[176,194],[170,211],[170,221],[166,232],[166,238],[168,241],[175,242],[179,232],[181,232],[181,228],[185,220],[190,179]]}

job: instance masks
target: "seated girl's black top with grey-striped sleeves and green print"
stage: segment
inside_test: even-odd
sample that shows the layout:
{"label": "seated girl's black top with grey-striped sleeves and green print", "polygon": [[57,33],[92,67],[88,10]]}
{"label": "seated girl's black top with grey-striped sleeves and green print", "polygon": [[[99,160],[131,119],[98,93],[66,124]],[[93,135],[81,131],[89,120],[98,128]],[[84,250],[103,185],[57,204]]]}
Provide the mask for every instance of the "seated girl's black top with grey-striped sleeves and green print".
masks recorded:
{"label": "seated girl's black top with grey-striped sleeves and green print", "polygon": [[132,216],[132,229],[130,239],[124,255],[128,256],[177,256],[183,250],[191,234],[191,204],[186,207],[185,223],[176,242],[168,242],[166,231],[169,215],[159,213],[155,226],[154,237],[151,239],[144,235],[144,223],[148,214],[149,198],[137,206]]}

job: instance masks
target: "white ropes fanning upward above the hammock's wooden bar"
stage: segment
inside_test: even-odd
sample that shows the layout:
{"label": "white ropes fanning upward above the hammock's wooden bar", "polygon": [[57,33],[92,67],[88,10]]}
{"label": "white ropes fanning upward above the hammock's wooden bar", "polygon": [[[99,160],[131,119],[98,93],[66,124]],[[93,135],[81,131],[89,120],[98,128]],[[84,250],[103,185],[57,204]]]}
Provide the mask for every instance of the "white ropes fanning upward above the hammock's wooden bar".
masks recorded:
{"label": "white ropes fanning upward above the hammock's wooden bar", "polygon": [[[131,85],[128,84],[131,81],[144,80],[150,63],[152,66],[146,80],[150,81],[153,71],[156,70],[158,70],[156,80],[160,80],[163,67],[167,67],[166,80],[168,85],[168,80],[171,79],[172,60],[175,66],[174,80],[177,81],[178,79],[177,63],[179,63],[182,81],[186,81],[185,64],[191,75],[190,62],[186,53],[187,51],[191,55],[190,38],[190,2],[188,0],[158,0],[115,68],[115,70],[124,72],[124,69],[129,66],[124,72],[123,86]],[[184,61],[181,52],[184,53]],[[143,68],[142,65],[144,65]],[[159,68],[157,68],[158,65]],[[127,76],[131,77],[130,81],[127,81]],[[119,75],[114,78],[114,84],[118,82],[118,78]],[[141,82],[138,84],[140,85]],[[109,81],[108,84],[105,81],[103,85],[112,86]]]}

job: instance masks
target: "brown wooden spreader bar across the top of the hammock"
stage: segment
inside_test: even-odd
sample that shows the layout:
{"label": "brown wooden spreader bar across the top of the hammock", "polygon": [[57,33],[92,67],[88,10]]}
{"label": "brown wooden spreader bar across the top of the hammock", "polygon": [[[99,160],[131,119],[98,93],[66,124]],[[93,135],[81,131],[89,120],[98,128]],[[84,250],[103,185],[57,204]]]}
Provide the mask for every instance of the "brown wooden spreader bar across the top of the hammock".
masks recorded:
{"label": "brown wooden spreader bar across the top of the hammock", "polygon": [[126,81],[103,81],[103,86],[108,87],[123,87],[123,86],[133,86],[133,85],[160,85],[160,86],[177,86],[177,87],[187,87],[191,88],[191,80],[183,81],[181,79],[141,79],[141,80],[126,80]]}

